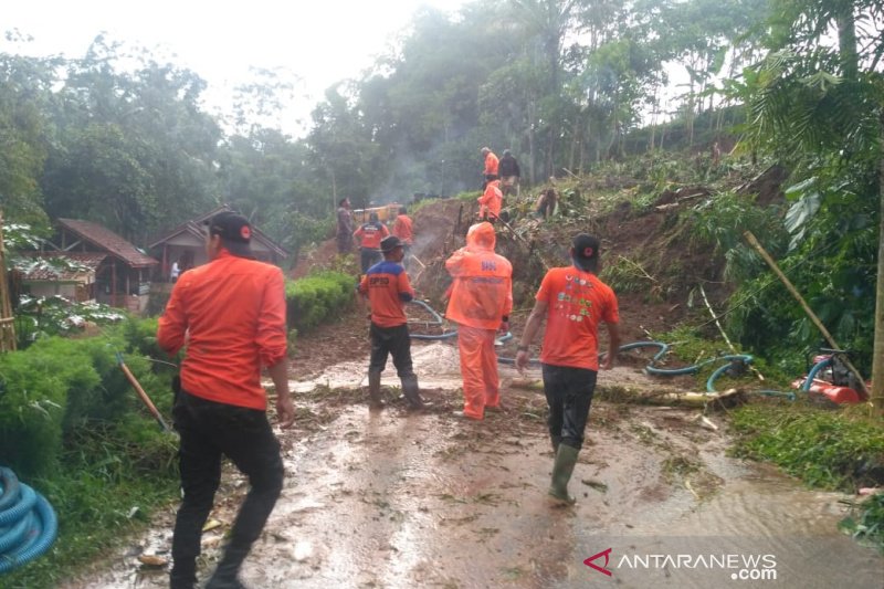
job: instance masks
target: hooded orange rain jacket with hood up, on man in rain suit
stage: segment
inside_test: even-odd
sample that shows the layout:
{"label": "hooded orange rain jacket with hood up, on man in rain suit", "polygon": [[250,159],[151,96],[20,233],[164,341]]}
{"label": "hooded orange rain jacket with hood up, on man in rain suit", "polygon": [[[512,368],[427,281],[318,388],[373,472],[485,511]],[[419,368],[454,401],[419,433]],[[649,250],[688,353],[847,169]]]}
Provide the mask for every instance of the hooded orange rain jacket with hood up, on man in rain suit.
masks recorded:
{"label": "hooded orange rain jacket with hood up, on man in rain suit", "polygon": [[494,253],[494,227],[477,223],[466,233],[466,246],[454,252],[445,269],[454,278],[445,317],[481,329],[497,329],[513,311],[513,266]]}

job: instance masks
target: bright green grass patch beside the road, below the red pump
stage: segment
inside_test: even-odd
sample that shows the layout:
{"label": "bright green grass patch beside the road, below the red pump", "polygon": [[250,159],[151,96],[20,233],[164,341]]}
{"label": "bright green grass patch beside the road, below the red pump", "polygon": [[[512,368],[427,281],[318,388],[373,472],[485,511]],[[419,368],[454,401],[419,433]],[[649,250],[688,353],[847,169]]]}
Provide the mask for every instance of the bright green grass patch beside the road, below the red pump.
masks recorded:
{"label": "bright green grass patch beside the road, below the red pump", "polygon": [[884,466],[884,428],[862,416],[796,402],[751,403],[733,412],[739,456],[774,462],[814,487],[855,492],[874,486]]}

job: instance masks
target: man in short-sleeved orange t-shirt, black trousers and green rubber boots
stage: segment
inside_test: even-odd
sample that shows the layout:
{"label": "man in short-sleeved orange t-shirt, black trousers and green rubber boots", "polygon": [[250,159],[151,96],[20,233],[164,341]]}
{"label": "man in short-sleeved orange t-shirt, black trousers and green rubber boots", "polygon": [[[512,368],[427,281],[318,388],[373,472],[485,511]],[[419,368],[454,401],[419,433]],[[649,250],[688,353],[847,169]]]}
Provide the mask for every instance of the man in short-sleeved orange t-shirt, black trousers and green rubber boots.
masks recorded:
{"label": "man in short-sleeved orange t-shirt, black trousers and green rubber boots", "polygon": [[572,265],[554,267],[544,276],[516,354],[516,368],[522,371],[528,365],[528,346],[546,317],[540,364],[549,407],[549,437],[556,453],[549,495],[566,504],[575,502],[568,495],[568,482],[583,444],[596,390],[599,323],[608,327],[603,370],[613,367],[620,346],[617,296],[596,275],[599,240],[586,233],[577,235],[571,260]]}

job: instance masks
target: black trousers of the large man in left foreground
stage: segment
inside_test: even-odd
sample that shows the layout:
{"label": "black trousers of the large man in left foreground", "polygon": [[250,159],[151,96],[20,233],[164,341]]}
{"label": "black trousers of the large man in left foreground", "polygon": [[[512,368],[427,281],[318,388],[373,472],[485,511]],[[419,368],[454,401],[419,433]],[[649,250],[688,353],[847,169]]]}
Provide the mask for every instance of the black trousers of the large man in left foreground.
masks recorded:
{"label": "black trousers of the large man in left foreground", "polygon": [[280,443],[262,410],[217,403],[182,390],[172,414],[181,435],[178,455],[185,496],[175,522],[171,586],[192,587],[202,526],[221,483],[221,455],[249,476],[251,485],[228,548],[243,555],[276,504],[283,487],[283,462]]}

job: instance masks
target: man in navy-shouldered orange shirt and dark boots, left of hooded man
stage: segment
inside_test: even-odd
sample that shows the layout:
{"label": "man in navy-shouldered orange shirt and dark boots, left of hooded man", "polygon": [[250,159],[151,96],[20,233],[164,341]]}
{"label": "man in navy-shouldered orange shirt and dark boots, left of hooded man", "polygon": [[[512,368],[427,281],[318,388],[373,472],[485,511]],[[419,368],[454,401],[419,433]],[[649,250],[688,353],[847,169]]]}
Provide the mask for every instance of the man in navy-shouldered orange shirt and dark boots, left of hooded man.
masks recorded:
{"label": "man in navy-shouldered orange shirt and dark boots, left of hooded man", "polygon": [[402,393],[412,409],[421,409],[418,377],[411,365],[411,336],[408,333],[404,304],[414,298],[414,290],[400,264],[404,246],[399,238],[390,235],[380,242],[383,261],[375,264],[359,283],[359,294],[371,309],[371,359],[368,364],[368,393],[371,407],[383,407],[380,396],[380,374],[387,367],[387,356],[392,355]]}

